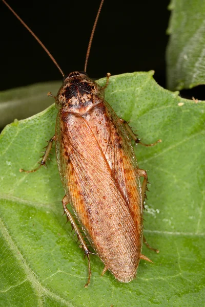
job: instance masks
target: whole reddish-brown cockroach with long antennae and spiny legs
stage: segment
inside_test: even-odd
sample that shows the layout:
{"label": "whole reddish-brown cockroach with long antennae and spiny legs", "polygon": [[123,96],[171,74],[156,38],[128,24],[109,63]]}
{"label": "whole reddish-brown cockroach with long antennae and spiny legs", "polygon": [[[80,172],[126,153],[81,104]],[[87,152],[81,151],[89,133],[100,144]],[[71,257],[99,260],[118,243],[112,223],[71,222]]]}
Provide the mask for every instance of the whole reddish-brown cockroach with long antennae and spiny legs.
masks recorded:
{"label": "whole reddish-brown cockroach with long antennae and spiny legs", "polygon": [[[55,98],[58,109],[55,134],[39,166],[20,171],[34,172],[45,165],[55,141],[58,170],[66,193],[62,200],[64,213],[88,258],[89,273],[85,287],[91,278],[90,254],[97,254],[104,262],[102,275],[109,270],[117,280],[129,282],[136,276],[140,259],[151,261],[141,254],[143,240],[150,248],[142,234],[148,176],[145,170],[138,167],[131,138],[145,146],[153,146],[161,140],[149,145],[141,143],[129,124],[119,119],[105,101],[110,74],[107,74],[105,86],[101,87],[86,73],[104,0],[101,0],[95,18],[84,71],[75,71],[66,76],[43,43],[6,1],[3,2],[40,43],[64,77],[57,96],[48,93]],[[144,177],[142,185],[141,176]],[[75,218],[67,208],[68,204],[94,253],[89,250]]]}

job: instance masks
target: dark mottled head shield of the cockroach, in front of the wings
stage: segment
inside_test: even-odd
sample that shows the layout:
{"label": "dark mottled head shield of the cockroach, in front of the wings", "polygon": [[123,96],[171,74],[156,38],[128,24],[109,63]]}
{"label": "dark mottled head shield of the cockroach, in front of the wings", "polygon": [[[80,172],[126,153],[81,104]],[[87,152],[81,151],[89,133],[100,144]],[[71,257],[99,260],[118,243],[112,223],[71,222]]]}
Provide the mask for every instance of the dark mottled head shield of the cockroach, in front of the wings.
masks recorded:
{"label": "dark mottled head shield of the cockroach, in front of the wings", "polygon": [[104,90],[85,72],[72,72],[64,77],[57,93],[56,107],[60,112],[86,114],[104,98]]}

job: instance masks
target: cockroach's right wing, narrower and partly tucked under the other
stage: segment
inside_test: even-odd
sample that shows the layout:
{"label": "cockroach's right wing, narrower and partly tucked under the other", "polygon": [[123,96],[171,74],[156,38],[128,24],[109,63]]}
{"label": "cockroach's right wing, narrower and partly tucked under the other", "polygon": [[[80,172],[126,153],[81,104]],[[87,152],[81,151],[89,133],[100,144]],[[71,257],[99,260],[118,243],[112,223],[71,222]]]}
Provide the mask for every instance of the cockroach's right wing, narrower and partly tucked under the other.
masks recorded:
{"label": "cockroach's right wing, narrower and partly tucked under the other", "polygon": [[138,164],[127,130],[105,100],[93,107],[86,119],[130,209],[142,245],[141,187]]}

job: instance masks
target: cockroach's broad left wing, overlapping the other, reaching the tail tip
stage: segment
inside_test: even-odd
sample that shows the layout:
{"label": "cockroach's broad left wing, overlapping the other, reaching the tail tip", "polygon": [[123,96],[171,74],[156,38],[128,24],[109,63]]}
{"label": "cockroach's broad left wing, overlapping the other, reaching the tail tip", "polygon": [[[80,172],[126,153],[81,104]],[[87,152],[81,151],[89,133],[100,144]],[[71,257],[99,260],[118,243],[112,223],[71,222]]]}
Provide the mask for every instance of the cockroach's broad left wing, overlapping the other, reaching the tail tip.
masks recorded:
{"label": "cockroach's broad left wing, overlapping the other, reaching the tail tip", "polygon": [[[56,156],[60,178],[94,250],[119,281],[129,282],[140,260],[141,235],[89,116],[58,113]],[[109,129],[107,125],[105,137]]]}

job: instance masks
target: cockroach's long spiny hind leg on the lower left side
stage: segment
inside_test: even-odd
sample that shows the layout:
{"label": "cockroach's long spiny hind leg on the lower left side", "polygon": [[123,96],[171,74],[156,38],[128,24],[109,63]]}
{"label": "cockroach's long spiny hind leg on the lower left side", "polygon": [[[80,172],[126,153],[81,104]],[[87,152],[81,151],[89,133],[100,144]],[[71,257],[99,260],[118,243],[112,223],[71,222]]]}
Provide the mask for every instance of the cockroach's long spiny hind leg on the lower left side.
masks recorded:
{"label": "cockroach's long spiny hind leg on the lower left side", "polygon": [[78,226],[77,226],[77,224],[74,220],[74,217],[72,216],[71,212],[67,208],[67,205],[69,204],[69,199],[68,199],[67,195],[64,196],[64,198],[62,200],[62,204],[63,204],[64,212],[67,215],[67,219],[71,222],[72,229],[74,229],[75,233],[77,234],[77,238],[80,242],[80,246],[81,246],[81,248],[84,249],[85,256],[87,256],[87,258],[88,258],[88,281],[84,286],[85,288],[87,288],[89,283],[90,283],[90,278],[91,278],[91,268],[90,268],[90,254],[91,254],[91,252],[86,245],[86,242],[83,238],[83,235],[80,233],[80,230],[79,230],[79,228],[78,228]]}

